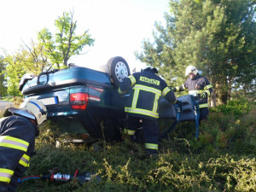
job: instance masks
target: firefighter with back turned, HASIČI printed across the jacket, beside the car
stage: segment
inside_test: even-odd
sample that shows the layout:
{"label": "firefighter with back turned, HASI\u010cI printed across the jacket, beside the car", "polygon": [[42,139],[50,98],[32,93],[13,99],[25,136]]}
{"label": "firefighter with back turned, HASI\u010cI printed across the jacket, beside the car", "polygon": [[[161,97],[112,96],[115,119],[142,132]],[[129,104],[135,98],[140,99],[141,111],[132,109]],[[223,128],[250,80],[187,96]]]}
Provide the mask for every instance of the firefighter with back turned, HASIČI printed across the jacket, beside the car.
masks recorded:
{"label": "firefighter with back turned, HASI\u010cI printed across the jacket, beside the car", "polygon": [[169,102],[175,103],[176,96],[166,82],[158,75],[158,70],[145,67],[140,73],[133,73],[125,78],[119,86],[119,94],[131,90],[125,103],[127,113],[127,133],[134,140],[137,125],[143,121],[144,142],[147,154],[158,154],[158,100],[164,96]]}

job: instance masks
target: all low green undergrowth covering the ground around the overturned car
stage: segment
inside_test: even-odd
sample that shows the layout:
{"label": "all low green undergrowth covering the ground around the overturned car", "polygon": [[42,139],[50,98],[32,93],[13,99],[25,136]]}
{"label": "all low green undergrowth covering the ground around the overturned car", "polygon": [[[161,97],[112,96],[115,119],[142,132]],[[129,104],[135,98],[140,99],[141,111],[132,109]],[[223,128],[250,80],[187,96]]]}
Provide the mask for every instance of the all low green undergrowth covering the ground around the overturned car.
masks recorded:
{"label": "all low green undergrowth covering the ground around the overturned car", "polygon": [[[26,176],[90,172],[84,183],[29,179],[19,191],[255,191],[256,105],[245,98],[212,108],[195,139],[193,122],[180,123],[160,142],[159,157],[146,157],[143,144],[74,144],[71,134],[44,124]],[[160,122],[163,125],[163,122]],[[133,153],[131,153],[131,148]]]}

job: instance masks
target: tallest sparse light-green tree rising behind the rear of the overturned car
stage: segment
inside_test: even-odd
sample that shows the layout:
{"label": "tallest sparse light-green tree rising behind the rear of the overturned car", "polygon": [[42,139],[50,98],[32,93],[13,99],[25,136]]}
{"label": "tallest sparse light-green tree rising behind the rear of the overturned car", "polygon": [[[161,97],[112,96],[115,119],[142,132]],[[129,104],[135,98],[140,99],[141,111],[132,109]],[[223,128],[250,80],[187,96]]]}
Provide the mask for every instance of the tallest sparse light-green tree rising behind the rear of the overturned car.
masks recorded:
{"label": "tallest sparse light-green tree rising behind the rear of the overturned car", "polygon": [[38,32],[39,44],[44,46],[45,55],[49,56],[50,61],[61,68],[61,64],[67,67],[67,62],[73,55],[79,55],[85,45],[92,45],[94,39],[90,38],[88,31],[82,35],[76,35],[77,21],[73,21],[73,13],[64,12],[62,17],[55,20],[55,37],[44,28]]}

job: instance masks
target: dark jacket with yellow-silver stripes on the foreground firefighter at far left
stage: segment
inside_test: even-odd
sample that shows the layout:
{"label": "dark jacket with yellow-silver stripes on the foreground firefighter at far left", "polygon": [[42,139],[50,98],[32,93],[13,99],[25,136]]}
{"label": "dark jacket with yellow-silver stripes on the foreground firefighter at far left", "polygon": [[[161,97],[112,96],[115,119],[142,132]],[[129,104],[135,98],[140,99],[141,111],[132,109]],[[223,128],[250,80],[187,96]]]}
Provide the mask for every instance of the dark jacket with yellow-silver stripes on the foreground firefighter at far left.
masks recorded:
{"label": "dark jacket with yellow-silver stripes on the foreground firefighter at far left", "polygon": [[15,190],[18,177],[29,166],[36,136],[37,126],[24,117],[0,120],[0,191]]}

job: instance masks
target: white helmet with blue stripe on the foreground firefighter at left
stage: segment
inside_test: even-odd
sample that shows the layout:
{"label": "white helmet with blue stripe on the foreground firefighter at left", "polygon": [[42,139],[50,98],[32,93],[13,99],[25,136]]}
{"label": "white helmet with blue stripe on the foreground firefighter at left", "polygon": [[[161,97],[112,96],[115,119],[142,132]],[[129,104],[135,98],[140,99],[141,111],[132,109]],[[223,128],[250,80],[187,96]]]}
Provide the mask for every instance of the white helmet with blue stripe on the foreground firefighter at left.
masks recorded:
{"label": "white helmet with blue stripe on the foreground firefighter at left", "polygon": [[38,125],[42,124],[47,117],[47,109],[43,102],[31,98],[27,102],[23,102],[20,108],[9,108],[9,112],[20,114],[29,119],[37,120]]}

